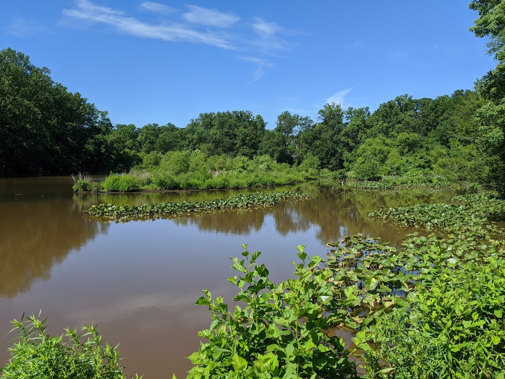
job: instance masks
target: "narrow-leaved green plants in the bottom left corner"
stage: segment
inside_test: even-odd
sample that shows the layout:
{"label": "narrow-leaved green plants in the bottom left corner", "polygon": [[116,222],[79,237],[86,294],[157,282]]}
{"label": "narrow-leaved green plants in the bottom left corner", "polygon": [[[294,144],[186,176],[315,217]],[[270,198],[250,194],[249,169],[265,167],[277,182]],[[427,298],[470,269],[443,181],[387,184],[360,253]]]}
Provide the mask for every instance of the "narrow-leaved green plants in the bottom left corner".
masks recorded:
{"label": "narrow-leaved green plants in the bottom left corner", "polygon": [[[9,363],[0,369],[2,379],[124,379],[118,346],[102,341],[96,326],[85,325],[83,333],[65,329],[61,336],[49,336],[46,320],[31,315],[13,320],[18,337],[9,349]],[[135,375],[138,378],[137,375]]]}

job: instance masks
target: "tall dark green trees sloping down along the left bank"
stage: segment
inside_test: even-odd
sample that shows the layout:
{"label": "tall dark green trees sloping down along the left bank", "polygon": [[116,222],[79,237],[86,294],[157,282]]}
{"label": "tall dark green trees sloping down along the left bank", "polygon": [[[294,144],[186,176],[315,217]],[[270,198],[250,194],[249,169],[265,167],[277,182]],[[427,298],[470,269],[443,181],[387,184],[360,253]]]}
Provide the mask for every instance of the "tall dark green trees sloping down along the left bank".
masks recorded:
{"label": "tall dark green trees sloping down along the left bank", "polygon": [[0,176],[91,171],[90,140],[108,132],[108,118],[49,74],[22,53],[0,52]]}

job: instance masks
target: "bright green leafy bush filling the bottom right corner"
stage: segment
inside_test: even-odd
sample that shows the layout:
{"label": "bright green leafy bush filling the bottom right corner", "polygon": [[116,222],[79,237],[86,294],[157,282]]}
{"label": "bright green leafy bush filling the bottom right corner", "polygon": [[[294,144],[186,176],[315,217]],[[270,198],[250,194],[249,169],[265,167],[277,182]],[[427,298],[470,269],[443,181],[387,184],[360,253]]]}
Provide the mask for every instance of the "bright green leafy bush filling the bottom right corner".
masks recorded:
{"label": "bright green leafy bush filling the bottom right corner", "polygon": [[[418,286],[410,312],[377,319],[369,338],[371,377],[503,378],[505,374],[505,260],[433,272]],[[371,367],[370,367],[371,368]],[[374,370],[369,370],[374,371]]]}

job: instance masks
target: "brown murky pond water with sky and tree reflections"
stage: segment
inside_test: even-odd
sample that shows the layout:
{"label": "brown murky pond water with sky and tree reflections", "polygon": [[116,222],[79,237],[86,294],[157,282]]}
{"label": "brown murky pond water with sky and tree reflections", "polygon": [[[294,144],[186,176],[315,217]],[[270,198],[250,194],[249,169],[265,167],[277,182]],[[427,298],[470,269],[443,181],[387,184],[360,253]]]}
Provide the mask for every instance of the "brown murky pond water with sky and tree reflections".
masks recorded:
{"label": "brown murky pond water with sky and tree reflections", "polygon": [[230,301],[229,257],[240,255],[241,244],[263,252],[259,261],[278,282],[291,275],[297,245],[324,255],[327,242],[355,233],[398,244],[407,231],[369,220],[369,211],[453,195],[367,193],[339,182],[280,189],[317,198],[268,210],[103,223],[82,210],[105,202],[203,201],[239,192],[74,195],[69,177],[0,179],[0,366],[14,337],[4,337],[9,321],[42,310],[51,334],[98,324],[110,344],[121,342],[129,374],[185,377],[191,365],[184,357],[198,349],[196,333],[210,323],[207,308],[194,302],[202,289]]}

